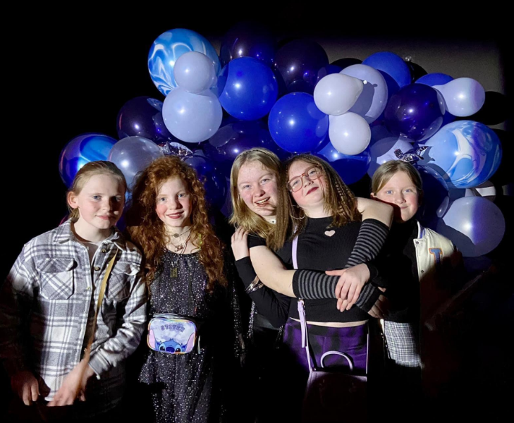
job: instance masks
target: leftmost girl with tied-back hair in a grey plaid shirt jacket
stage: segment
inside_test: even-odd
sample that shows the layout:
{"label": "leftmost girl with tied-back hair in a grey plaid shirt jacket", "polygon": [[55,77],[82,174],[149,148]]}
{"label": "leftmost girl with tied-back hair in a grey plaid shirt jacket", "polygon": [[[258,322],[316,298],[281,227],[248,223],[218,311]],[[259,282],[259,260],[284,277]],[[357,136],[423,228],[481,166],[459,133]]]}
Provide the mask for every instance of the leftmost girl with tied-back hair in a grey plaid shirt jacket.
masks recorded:
{"label": "leftmost girl with tied-back hair in a grey plaid shirt jacket", "polygon": [[13,392],[43,419],[66,408],[75,421],[99,422],[121,400],[147,301],[142,255],[114,226],[126,189],[111,162],[85,164],[68,191],[70,219],[25,244],[2,286],[0,358]]}

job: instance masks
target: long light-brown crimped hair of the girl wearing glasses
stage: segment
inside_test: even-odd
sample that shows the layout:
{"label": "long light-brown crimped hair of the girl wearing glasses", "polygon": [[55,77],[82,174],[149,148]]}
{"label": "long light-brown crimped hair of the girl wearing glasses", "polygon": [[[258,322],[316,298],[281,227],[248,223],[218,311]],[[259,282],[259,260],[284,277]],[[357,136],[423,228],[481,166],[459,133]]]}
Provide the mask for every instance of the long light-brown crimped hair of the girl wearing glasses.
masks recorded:
{"label": "long light-brown crimped hair of the girl wearing glasses", "polygon": [[269,247],[272,250],[279,250],[286,242],[289,235],[302,233],[305,229],[305,212],[298,205],[293,204],[294,200],[287,188],[288,172],[290,166],[295,161],[305,161],[305,163],[318,166],[322,169],[326,179],[324,192],[324,209],[334,217],[331,226],[340,227],[348,222],[360,221],[361,214],[357,210],[357,200],[353,192],[338,175],[334,168],[326,161],[312,154],[299,154],[292,157],[285,163],[285,171],[279,185],[279,198],[276,208],[276,230],[271,233]]}

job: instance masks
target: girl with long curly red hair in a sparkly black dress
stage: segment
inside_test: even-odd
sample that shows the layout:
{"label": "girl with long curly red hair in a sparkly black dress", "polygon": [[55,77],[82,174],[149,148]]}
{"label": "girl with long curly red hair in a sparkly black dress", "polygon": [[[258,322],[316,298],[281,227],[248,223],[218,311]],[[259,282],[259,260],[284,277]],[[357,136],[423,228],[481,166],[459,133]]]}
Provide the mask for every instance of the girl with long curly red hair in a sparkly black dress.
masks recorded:
{"label": "girl with long curly red hair in a sparkly black dress", "polygon": [[128,232],[145,255],[149,317],[173,313],[200,328],[190,353],[147,353],[140,381],[149,385],[156,422],[223,421],[221,379],[230,377],[219,371],[240,339],[240,320],[204,195],[190,166],[161,157],[138,178],[128,212]]}

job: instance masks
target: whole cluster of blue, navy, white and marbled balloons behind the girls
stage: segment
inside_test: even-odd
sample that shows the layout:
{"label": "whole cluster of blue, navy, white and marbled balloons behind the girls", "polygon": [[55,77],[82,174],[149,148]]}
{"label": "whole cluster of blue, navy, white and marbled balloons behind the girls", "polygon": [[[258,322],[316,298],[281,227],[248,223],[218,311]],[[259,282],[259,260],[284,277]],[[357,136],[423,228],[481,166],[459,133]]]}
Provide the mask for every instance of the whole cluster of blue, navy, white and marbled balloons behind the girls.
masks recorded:
{"label": "whole cluster of blue, navy, white and marbled balloons behind the girls", "polygon": [[329,63],[317,42],[295,39],[279,48],[253,23],[231,28],[219,56],[197,32],[166,31],[149,50],[148,69],[164,102],[126,102],[116,120],[119,141],[102,134],[71,140],[59,160],[66,185],[87,161],[107,159],[132,186],[152,160],[176,154],[221,207],[235,157],[252,147],[281,159],[317,154],[348,184],[386,161],[408,159],[424,181],[425,223],[465,255],[485,254],[503,236],[499,209],[472,191],[498,169],[501,143],[482,123],[455,121],[482,108],[485,92],[476,80],[420,73],[388,51]]}

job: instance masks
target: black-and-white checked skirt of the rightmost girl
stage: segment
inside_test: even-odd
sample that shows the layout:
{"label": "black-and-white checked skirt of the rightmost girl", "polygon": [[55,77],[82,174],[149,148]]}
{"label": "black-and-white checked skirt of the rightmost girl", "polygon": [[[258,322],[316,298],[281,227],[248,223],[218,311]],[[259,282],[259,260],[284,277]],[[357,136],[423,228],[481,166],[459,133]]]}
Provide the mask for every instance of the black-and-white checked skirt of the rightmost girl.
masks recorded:
{"label": "black-and-white checked skirt of the rightmost girl", "polygon": [[391,360],[404,367],[421,366],[417,331],[412,324],[384,321],[384,335]]}

